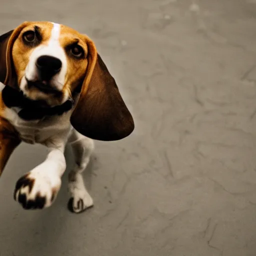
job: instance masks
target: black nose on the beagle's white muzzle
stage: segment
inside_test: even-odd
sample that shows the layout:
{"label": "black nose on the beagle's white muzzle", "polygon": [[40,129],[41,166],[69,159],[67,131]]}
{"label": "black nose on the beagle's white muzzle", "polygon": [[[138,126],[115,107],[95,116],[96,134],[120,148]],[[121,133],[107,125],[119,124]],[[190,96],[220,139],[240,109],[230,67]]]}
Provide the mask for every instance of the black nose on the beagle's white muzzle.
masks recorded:
{"label": "black nose on the beagle's white muzzle", "polygon": [[37,58],[35,63],[40,80],[50,80],[61,69],[61,60],[48,55],[42,55]]}

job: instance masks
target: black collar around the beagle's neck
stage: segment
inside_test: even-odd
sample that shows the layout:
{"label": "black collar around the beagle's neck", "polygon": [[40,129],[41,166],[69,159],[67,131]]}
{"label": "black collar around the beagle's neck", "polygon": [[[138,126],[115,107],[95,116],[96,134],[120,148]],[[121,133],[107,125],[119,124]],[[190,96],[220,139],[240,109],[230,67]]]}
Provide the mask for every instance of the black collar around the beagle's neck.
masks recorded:
{"label": "black collar around the beagle's neck", "polygon": [[2,100],[7,107],[21,108],[18,116],[24,120],[41,119],[45,115],[61,115],[73,106],[73,101],[68,99],[61,105],[42,107],[40,101],[28,99],[22,91],[13,89],[8,85],[2,89]]}

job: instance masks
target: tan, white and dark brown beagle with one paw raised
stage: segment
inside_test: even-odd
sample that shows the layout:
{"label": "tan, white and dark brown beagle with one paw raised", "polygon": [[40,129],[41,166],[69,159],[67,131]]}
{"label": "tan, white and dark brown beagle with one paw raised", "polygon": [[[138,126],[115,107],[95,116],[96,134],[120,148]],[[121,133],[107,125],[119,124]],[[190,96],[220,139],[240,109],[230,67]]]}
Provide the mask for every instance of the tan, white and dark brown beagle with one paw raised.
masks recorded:
{"label": "tan, white and dark brown beagle with one paw raised", "polygon": [[0,174],[21,141],[48,148],[46,159],[20,177],[14,199],[24,209],[50,206],[59,191],[70,143],[75,166],[68,175],[68,208],[93,205],[81,172],[93,139],[118,140],[134,129],[93,41],[52,22],[23,22],[0,36]]}

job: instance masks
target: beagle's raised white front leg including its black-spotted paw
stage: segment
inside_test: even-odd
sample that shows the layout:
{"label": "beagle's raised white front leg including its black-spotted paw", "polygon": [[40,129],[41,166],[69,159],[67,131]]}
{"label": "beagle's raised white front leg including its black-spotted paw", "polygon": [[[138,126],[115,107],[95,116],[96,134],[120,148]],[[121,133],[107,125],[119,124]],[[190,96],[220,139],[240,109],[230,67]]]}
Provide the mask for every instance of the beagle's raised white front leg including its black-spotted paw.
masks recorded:
{"label": "beagle's raised white front leg including its black-spotted paw", "polygon": [[46,159],[16,182],[14,199],[24,209],[50,206],[61,185],[61,176],[66,168],[65,141],[54,138],[44,144],[49,148]]}

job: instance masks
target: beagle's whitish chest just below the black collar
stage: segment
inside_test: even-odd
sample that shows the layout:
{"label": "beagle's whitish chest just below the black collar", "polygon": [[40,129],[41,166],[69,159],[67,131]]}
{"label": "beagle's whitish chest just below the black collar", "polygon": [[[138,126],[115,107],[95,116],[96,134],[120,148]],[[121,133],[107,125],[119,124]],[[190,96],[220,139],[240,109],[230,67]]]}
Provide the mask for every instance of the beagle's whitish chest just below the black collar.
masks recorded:
{"label": "beagle's whitish chest just below the black collar", "polygon": [[18,108],[5,108],[4,117],[18,131],[21,140],[26,143],[42,143],[46,139],[70,128],[68,112],[61,116],[49,116],[40,120],[23,120],[17,114]]}

